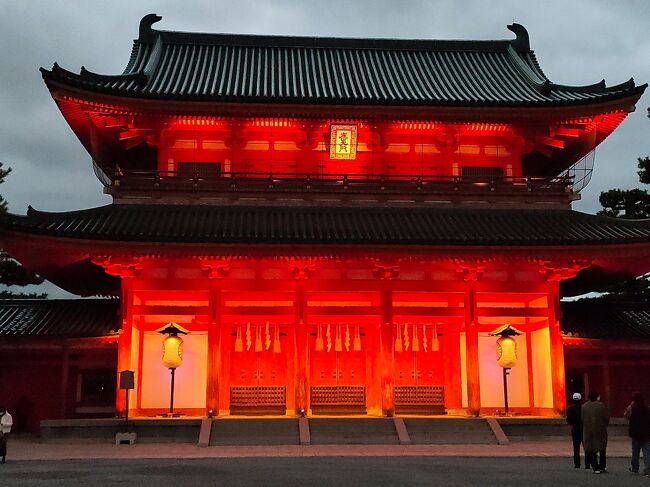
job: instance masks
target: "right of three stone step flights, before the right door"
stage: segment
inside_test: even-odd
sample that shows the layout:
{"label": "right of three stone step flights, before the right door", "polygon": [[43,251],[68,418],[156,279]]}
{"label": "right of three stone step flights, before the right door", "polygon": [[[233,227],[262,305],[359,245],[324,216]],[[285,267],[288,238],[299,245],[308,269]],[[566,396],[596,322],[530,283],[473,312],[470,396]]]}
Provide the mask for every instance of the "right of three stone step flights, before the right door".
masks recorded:
{"label": "right of three stone step flights, before the right door", "polygon": [[482,418],[403,418],[414,445],[496,444]]}

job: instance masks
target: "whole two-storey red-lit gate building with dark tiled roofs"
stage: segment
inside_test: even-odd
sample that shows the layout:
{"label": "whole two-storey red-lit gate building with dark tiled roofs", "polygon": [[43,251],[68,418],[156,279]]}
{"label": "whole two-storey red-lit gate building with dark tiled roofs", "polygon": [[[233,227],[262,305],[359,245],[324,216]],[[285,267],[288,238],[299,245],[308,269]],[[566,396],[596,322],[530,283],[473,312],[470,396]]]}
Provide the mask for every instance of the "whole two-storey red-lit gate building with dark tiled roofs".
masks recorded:
{"label": "whole two-storey red-lit gate building with dark tiled roofs", "polygon": [[402,41],[158,20],[121,75],[43,70],[114,203],[30,209],[3,236],[61,287],[120,296],[135,414],[167,407],[168,322],[189,332],[187,414],[494,411],[504,324],[511,410],[564,411],[562,281],[650,264],[646,225],[571,211],[576,163],[645,85],[554,84],[517,24]]}

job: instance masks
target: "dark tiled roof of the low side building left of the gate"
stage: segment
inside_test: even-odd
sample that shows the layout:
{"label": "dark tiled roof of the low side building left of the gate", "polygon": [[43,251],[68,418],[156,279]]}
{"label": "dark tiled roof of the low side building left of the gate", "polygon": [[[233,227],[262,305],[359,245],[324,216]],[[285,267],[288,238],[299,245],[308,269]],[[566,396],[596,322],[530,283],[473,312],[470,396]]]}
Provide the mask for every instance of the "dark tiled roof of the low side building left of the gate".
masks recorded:
{"label": "dark tiled roof of the low side building left of the gate", "polygon": [[116,299],[0,300],[0,337],[100,337],[119,330]]}

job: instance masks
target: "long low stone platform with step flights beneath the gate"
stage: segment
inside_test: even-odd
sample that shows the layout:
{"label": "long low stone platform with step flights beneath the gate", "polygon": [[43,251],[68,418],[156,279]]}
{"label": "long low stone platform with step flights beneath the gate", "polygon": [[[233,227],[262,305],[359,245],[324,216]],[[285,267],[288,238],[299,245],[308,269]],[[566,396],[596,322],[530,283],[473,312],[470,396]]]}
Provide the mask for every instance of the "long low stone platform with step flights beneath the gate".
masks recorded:
{"label": "long low stone platform with step flights beneath the gate", "polygon": [[[41,422],[43,443],[114,443],[116,433],[135,432],[136,443],[206,446],[279,445],[504,445],[562,442],[569,427],[561,418],[524,417],[224,417],[50,420]],[[611,439],[625,440],[627,427],[614,419]]]}

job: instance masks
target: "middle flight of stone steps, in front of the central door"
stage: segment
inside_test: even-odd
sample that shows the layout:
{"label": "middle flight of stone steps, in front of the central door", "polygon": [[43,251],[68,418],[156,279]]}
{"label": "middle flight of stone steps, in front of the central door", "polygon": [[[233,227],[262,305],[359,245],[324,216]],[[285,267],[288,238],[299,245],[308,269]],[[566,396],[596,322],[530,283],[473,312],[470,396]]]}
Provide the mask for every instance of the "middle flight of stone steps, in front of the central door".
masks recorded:
{"label": "middle flight of stone steps, in front of the central door", "polygon": [[310,418],[312,445],[398,445],[391,418]]}

